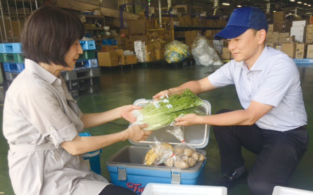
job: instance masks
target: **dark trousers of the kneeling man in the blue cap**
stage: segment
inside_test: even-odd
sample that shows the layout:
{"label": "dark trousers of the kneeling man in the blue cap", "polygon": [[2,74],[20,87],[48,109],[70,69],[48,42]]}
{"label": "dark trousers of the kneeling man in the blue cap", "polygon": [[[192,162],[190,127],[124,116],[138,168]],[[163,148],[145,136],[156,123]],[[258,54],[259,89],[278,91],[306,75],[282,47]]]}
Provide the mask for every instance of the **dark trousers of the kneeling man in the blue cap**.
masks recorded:
{"label": "dark trousers of the kneeling man in the blue cap", "polygon": [[[219,113],[230,112],[221,110]],[[242,147],[257,155],[248,175],[252,195],[271,195],[277,185],[286,186],[308,149],[306,127],[286,132],[251,126],[213,126],[219,144],[222,173],[244,166]]]}

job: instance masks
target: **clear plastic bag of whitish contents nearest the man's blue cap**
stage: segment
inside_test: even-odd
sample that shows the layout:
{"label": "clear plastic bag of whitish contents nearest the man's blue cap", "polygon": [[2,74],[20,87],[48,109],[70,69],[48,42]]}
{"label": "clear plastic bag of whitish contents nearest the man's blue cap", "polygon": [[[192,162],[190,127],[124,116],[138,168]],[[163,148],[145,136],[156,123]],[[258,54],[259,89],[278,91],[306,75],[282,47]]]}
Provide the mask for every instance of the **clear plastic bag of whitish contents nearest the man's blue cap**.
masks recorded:
{"label": "clear plastic bag of whitish contents nearest the man's blue cap", "polygon": [[222,60],[213,47],[210,46],[209,41],[199,33],[191,45],[191,54],[196,61],[196,65],[223,65]]}

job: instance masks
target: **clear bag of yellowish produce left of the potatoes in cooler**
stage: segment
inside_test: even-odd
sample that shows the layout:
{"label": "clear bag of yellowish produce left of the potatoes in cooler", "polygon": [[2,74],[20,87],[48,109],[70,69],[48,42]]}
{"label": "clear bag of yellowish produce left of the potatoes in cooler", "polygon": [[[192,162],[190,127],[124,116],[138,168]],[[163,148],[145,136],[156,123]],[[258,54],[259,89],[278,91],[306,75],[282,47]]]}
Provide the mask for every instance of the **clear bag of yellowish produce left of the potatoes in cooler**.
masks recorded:
{"label": "clear bag of yellowish produce left of the potatoes in cooler", "polygon": [[173,147],[169,143],[159,142],[152,146],[147,152],[143,164],[145,165],[158,165],[164,163],[165,160],[173,155]]}

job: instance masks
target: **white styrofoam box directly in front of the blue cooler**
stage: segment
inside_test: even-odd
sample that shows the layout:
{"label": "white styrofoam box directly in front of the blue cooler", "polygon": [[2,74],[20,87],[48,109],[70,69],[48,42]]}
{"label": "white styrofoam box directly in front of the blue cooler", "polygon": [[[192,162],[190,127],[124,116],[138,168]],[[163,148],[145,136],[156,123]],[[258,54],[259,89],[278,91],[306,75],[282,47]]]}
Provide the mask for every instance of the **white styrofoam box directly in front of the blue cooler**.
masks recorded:
{"label": "white styrofoam box directly in front of the blue cooler", "polygon": [[149,183],[141,195],[227,195],[227,188],[219,186]]}

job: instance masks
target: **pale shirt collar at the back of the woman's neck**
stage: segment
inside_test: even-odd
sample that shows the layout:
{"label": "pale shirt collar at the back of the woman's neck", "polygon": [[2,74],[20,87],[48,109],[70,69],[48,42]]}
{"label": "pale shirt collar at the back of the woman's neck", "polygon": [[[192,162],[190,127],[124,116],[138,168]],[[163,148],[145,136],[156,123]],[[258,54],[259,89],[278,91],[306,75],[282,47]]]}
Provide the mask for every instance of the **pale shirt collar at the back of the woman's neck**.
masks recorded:
{"label": "pale shirt collar at the back of the woman's neck", "polygon": [[35,72],[39,77],[43,78],[49,84],[52,84],[57,79],[56,76],[45,70],[45,68],[31,59],[25,59],[25,69]]}

